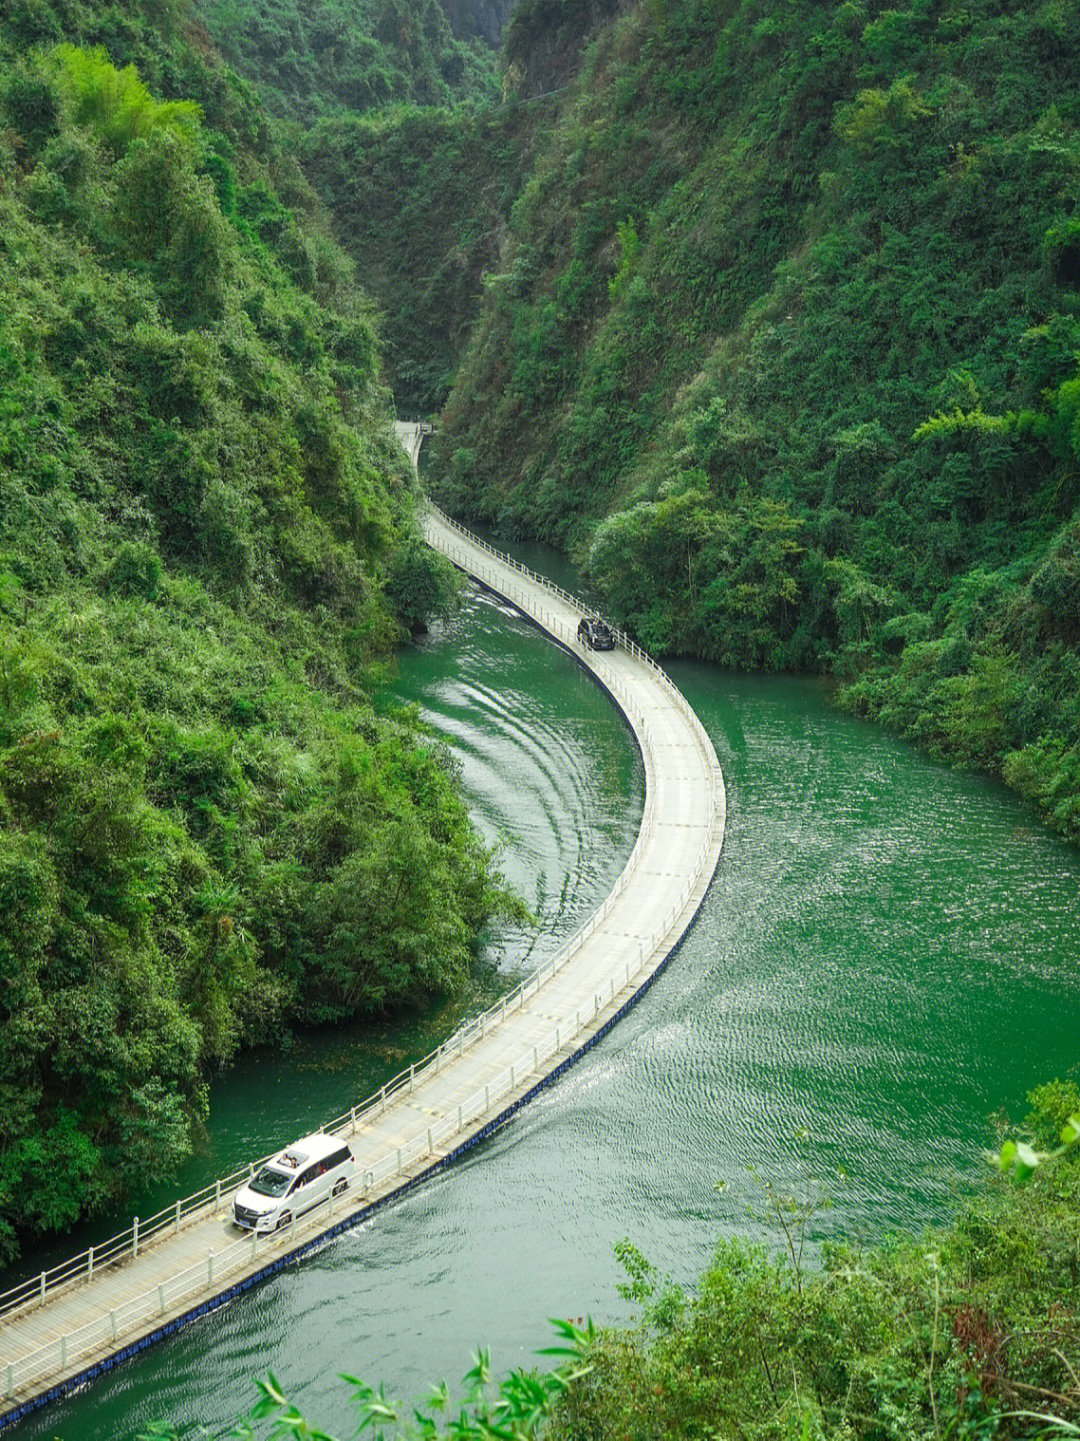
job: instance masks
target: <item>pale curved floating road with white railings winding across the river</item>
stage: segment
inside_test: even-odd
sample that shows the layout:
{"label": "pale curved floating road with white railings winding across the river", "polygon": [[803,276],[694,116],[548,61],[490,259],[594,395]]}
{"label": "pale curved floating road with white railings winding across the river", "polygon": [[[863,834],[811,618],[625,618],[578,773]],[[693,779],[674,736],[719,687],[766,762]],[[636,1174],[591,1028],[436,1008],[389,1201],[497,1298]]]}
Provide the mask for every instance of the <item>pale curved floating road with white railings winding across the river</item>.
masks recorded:
{"label": "pale curved floating road with white railings winding across the river", "polygon": [[[399,427],[415,461],[422,431]],[[241,1236],[232,1192],[258,1163],[0,1294],[0,1428],[355,1226],[476,1146],[593,1046],[649,987],[720,859],[724,778],[701,722],[632,641],[577,644],[583,607],[431,510],[428,542],[571,650],[626,715],[645,762],[642,829],[613,892],[551,961],[378,1095],[324,1127],[352,1190],[275,1236]],[[283,1141],[291,1137],[283,1137]]]}

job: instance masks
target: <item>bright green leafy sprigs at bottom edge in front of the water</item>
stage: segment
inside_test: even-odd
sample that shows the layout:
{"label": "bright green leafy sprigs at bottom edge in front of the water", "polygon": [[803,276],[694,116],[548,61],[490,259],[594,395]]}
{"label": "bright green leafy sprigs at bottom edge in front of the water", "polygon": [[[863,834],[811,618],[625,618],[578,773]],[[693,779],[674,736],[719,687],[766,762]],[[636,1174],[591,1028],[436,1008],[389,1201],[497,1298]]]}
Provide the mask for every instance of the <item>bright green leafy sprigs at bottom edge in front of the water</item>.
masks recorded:
{"label": "bright green leafy sprigs at bottom edge in front of the water", "polygon": [[[350,1388],[352,1401],[359,1411],[352,1435],[371,1437],[371,1441],[385,1441],[389,1437],[397,1437],[398,1441],[428,1441],[435,1437],[453,1441],[526,1441],[535,1437],[574,1383],[591,1370],[590,1353],[596,1342],[591,1317],[584,1326],[555,1319],[551,1324],[555,1329],[555,1344],[544,1346],[538,1355],[561,1357],[555,1370],[536,1373],[516,1369],[492,1391],[492,1355],[486,1347],[479,1347],[463,1378],[464,1401],[457,1415],[450,1415],[451,1393],[444,1380],[433,1388],[422,1408],[407,1408],[402,1402],[389,1399],[382,1385],[371,1386],[359,1376],[343,1375],[342,1380]],[[218,1434],[219,1441],[226,1437],[235,1441],[255,1441],[257,1437],[264,1441],[283,1437],[293,1437],[296,1441],[340,1441],[303,1417],[273,1370],[255,1385],[258,1401],[247,1417]],[[140,1431],[136,1441],[179,1441],[182,1434],[172,1422],[156,1421]],[[211,1435],[202,1429],[198,1434]]]}

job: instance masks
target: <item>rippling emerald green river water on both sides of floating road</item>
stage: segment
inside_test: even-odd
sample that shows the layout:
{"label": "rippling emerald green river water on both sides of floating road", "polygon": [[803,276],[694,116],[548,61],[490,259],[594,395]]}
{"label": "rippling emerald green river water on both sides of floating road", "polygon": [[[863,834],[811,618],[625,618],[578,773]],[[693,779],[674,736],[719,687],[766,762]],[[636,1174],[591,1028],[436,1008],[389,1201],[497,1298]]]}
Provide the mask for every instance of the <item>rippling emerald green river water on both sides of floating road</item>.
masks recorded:
{"label": "rippling emerald green river water on both sides of floating road", "polygon": [[[477,1343],[499,1372],[528,1362],[548,1316],[624,1319],[621,1236],[692,1281],[717,1236],[766,1231],[750,1167],[789,1189],[823,1182],[819,1233],[950,1213],[991,1114],[1022,1114],[1032,1085],[1077,1063],[1080,855],[1002,788],[839,715],[816,682],[670,670],[720,754],[728,831],[652,991],[461,1164],[6,1437],[115,1441],[156,1417],[216,1429],[267,1368],[352,1434],[337,1372],[414,1398],[456,1380]],[[391,689],[451,748],[542,918],[497,937],[493,958],[535,965],[633,846],[643,780],[624,723],[571,657],[479,594],[402,656]],[[163,1199],[337,1114],[456,1019],[249,1056],[213,1087],[211,1134]]]}

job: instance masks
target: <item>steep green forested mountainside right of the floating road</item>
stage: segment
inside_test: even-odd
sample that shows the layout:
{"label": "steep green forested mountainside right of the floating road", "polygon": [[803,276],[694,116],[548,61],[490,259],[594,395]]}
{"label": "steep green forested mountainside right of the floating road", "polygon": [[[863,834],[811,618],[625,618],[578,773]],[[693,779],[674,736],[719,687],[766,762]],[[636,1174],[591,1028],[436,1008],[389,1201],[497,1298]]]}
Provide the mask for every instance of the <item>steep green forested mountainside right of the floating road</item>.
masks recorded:
{"label": "steep green forested mountainside right of the floating road", "polygon": [[[510,22],[523,65],[565,10]],[[832,670],[1080,839],[1077,9],[603,12],[443,499],[575,552],[647,647]]]}

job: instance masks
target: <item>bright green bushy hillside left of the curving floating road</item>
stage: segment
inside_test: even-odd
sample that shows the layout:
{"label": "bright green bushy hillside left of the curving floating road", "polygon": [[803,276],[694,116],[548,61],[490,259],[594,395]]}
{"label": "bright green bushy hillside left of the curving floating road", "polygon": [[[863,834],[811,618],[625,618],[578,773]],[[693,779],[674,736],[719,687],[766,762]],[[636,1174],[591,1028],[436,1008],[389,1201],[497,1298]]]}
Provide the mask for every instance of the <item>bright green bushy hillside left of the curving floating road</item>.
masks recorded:
{"label": "bright green bushy hillside left of the curving floating road", "polygon": [[179,6],[17,0],[0,127],[9,1255],[167,1173],[238,1046],[460,987],[505,896],[368,699],[453,582],[251,92]]}

